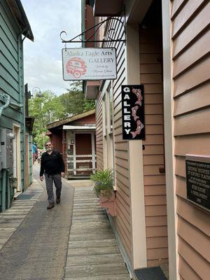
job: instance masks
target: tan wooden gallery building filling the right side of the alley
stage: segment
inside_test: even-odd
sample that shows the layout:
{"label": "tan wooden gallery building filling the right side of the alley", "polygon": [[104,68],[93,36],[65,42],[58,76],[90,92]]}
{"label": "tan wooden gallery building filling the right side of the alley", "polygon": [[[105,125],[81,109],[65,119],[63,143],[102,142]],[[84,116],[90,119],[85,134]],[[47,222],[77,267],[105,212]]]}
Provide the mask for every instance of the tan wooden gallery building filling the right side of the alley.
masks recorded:
{"label": "tan wooden gallery building filling the right side of the alley", "polygon": [[[115,29],[112,38],[126,43],[95,45],[116,48],[116,80],[87,81],[85,89],[97,101],[97,167],[115,170],[117,215],[109,218],[127,267],[143,275],[169,263],[170,280],[207,280],[210,216],[188,199],[186,155],[210,155],[210,3],[82,1],[91,18],[90,6],[97,21],[121,12],[125,24],[111,20],[98,36]],[[146,137],[123,140],[121,85],[140,84]]]}

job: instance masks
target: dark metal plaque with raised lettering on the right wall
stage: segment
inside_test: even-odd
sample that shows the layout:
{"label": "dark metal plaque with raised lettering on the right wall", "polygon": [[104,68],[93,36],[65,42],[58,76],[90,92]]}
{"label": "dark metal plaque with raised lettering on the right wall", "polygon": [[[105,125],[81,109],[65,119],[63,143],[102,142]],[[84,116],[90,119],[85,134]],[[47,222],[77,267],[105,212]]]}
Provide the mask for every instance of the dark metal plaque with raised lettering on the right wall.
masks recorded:
{"label": "dark metal plaque with raised lettering on the right wall", "polygon": [[186,155],[187,198],[210,211],[210,158]]}

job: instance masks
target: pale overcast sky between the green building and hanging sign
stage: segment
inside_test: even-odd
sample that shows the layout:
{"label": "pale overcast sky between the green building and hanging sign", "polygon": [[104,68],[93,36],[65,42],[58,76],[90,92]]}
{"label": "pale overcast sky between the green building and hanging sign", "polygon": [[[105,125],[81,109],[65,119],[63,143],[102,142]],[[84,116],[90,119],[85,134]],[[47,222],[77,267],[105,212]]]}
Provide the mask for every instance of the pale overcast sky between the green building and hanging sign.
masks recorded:
{"label": "pale overcast sky between the green building and hanging sign", "polygon": [[[29,90],[39,87],[41,91],[51,90],[59,95],[69,87],[69,82],[62,78],[64,44],[59,34],[65,30],[70,39],[80,33],[80,3],[80,0],[22,0],[34,34],[34,43],[27,38],[24,41],[25,83]],[[80,44],[71,43],[68,47]]]}

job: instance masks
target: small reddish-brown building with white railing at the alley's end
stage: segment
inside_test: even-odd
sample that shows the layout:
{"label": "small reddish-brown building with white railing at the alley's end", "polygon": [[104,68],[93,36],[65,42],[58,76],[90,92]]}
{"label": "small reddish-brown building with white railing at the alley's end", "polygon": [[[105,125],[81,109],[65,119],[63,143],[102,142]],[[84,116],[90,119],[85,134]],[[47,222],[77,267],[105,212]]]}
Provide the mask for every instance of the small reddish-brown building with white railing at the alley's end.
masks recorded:
{"label": "small reddish-brown building with white railing at the alley's end", "polygon": [[63,155],[67,178],[89,178],[95,173],[94,110],[58,120],[47,127],[53,147]]}

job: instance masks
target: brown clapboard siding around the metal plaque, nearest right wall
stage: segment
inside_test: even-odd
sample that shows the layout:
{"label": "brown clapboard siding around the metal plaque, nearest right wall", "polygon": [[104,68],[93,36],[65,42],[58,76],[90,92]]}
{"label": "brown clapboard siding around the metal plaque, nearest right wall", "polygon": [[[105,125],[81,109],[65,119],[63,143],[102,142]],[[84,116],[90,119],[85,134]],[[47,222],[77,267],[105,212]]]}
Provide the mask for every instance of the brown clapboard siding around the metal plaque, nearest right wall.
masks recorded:
{"label": "brown clapboard siding around the metal plaque, nearest right wall", "polygon": [[[186,154],[209,155],[209,1],[172,1],[175,175],[181,279],[209,279],[209,214],[186,200]],[[190,232],[190,234],[189,234]]]}

